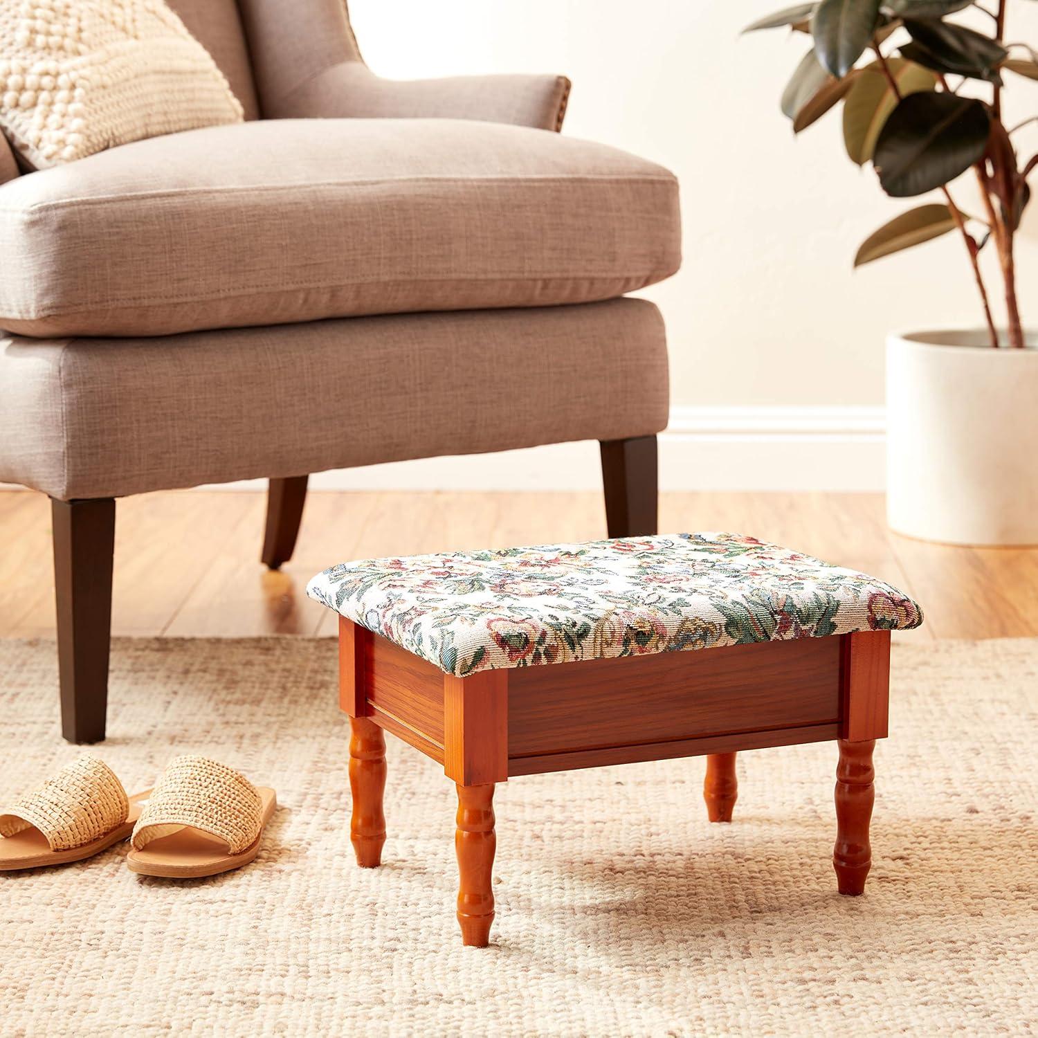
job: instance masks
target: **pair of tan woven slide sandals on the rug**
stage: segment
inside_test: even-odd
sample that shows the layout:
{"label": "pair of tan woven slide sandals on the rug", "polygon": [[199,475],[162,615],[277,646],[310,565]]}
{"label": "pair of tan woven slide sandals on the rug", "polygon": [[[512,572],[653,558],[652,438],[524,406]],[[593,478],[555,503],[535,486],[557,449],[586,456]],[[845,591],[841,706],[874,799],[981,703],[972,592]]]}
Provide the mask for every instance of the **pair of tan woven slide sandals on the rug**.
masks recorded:
{"label": "pair of tan woven slide sandals on the rug", "polygon": [[82,862],[129,838],[132,872],[215,876],[256,856],[276,807],[272,789],[204,757],[175,758],[134,796],[104,761],[81,757],[0,809],[0,871]]}

